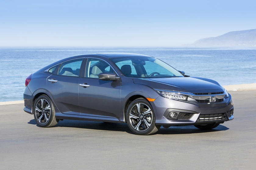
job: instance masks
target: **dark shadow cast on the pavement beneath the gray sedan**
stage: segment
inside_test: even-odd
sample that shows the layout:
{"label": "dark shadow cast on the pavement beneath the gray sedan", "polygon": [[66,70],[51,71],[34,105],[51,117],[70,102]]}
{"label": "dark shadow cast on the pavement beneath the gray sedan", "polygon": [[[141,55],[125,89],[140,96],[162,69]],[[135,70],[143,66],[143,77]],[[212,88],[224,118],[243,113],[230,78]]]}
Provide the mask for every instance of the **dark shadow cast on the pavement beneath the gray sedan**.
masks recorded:
{"label": "dark shadow cast on the pavement beneath the gray sedan", "polygon": [[[30,120],[28,124],[36,124],[34,119]],[[73,128],[83,128],[83,129],[94,129],[94,130],[104,130],[104,131],[123,131],[129,134],[133,132],[129,129],[128,125],[125,123],[108,123],[108,122],[95,122],[95,121],[77,121],[77,120],[63,120],[59,121],[56,127],[73,127]],[[160,127],[156,134],[196,134],[196,133],[206,133],[215,131],[226,131],[229,128],[223,125],[211,130],[201,130],[194,126],[171,126],[169,128]]]}

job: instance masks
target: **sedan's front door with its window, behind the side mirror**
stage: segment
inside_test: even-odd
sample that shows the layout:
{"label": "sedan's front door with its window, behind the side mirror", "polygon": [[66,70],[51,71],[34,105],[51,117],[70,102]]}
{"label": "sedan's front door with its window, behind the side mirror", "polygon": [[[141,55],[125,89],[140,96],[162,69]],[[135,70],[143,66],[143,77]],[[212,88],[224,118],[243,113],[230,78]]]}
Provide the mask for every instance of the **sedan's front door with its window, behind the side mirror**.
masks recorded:
{"label": "sedan's front door with its window, behind the side mirror", "polygon": [[80,79],[79,103],[81,115],[120,118],[120,81],[99,80],[102,72],[114,73],[100,59],[88,59],[85,77]]}

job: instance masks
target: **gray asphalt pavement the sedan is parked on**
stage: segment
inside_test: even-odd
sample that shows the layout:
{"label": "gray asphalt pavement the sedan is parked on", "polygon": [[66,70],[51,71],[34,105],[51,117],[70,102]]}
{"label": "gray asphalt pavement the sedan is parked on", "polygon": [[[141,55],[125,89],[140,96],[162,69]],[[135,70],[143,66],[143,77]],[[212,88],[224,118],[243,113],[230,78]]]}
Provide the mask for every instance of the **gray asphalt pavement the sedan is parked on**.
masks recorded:
{"label": "gray asphalt pavement the sedan is parked on", "polygon": [[0,169],[255,169],[256,91],[231,92],[233,121],[213,130],[64,120],[41,128],[23,104],[0,106]]}

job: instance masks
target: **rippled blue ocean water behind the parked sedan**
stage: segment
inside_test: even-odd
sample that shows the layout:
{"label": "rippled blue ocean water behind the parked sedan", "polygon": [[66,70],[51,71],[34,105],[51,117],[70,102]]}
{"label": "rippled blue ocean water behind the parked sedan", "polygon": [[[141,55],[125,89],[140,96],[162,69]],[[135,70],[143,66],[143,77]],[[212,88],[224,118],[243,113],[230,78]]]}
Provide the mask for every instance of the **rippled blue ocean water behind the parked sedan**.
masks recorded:
{"label": "rippled blue ocean water behind the parked sedan", "polygon": [[23,100],[26,78],[44,66],[70,56],[104,52],[155,56],[186,75],[221,85],[256,83],[256,48],[0,47],[0,102]]}

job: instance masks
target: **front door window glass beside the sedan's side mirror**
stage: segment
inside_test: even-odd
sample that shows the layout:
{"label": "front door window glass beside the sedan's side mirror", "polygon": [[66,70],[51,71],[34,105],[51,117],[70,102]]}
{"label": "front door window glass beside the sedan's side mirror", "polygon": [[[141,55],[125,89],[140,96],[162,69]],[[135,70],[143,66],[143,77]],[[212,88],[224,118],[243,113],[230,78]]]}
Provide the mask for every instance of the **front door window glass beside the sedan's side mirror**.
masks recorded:
{"label": "front door window glass beside the sedan's side mirror", "polygon": [[114,70],[103,60],[89,58],[87,60],[85,77],[99,78],[99,73],[114,73]]}

